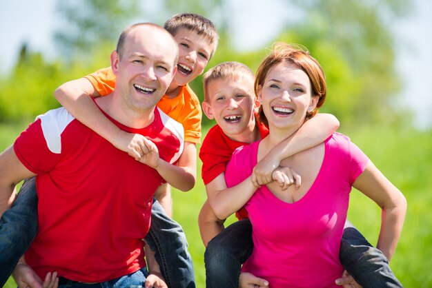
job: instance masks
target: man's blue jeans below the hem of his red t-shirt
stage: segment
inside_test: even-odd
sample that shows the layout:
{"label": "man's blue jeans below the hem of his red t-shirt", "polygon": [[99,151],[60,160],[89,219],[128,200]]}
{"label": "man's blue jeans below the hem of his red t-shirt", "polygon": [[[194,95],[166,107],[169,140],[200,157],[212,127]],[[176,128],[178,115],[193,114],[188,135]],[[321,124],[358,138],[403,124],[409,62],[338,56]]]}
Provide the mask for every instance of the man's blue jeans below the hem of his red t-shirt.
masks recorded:
{"label": "man's blue jeans below the hem of his red t-shirt", "polygon": [[141,288],[144,287],[147,276],[147,269],[142,268],[134,273],[95,284],[65,280],[66,284],[59,285],[59,288]]}

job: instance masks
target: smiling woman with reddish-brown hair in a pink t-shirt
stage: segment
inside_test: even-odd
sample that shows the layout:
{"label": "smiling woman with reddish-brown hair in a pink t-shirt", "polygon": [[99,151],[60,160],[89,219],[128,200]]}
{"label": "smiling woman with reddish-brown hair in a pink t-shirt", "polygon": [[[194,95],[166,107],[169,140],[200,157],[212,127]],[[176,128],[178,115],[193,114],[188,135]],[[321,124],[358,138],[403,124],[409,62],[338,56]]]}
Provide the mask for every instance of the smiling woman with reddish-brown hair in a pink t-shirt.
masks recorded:
{"label": "smiling woman with reddish-brown hair in a pink t-shirt", "polygon": [[[337,287],[339,248],[349,192],[355,187],[382,207],[377,248],[390,260],[400,237],[406,200],[348,137],[335,133],[324,143],[284,159],[302,185],[274,181],[255,187],[257,161],[315,115],[326,99],[324,72],[308,52],[278,43],[257,71],[259,119],[269,135],[239,148],[226,167],[228,188],[219,192],[218,216],[245,205],[253,225],[253,254],[242,271],[270,287]],[[281,174],[277,170],[273,179]],[[291,175],[288,178],[293,178]],[[289,181],[289,180],[288,180]],[[256,184],[255,184],[256,185]]]}

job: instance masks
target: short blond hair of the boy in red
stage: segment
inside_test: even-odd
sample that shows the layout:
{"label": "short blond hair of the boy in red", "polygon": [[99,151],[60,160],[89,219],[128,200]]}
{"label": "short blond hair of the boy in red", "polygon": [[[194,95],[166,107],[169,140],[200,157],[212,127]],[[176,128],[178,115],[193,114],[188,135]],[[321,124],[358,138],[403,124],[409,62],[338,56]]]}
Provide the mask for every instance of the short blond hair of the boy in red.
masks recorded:
{"label": "short blond hair of the boy in red", "polygon": [[217,79],[230,78],[237,80],[241,77],[250,78],[251,85],[255,81],[255,74],[253,74],[251,68],[236,61],[228,61],[217,64],[204,74],[204,101],[208,102],[208,83]]}

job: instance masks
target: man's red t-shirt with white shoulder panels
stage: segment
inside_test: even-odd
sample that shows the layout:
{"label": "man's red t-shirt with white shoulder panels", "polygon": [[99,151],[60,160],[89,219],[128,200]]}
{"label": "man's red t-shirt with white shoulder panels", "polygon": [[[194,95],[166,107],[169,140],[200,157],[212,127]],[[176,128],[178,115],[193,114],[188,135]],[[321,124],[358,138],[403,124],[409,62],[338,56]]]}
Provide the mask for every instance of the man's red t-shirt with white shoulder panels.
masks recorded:
{"label": "man's red t-shirt with white shoulder panels", "polygon": [[[108,117],[110,118],[110,117]],[[183,149],[183,127],[159,109],[153,123],[132,129],[152,140],[166,161]],[[39,233],[26,261],[43,279],[48,271],[80,282],[103,282],[145,267],[155,169],[81,124],[63,107],[39,116],[14,143],[37,174]]]}

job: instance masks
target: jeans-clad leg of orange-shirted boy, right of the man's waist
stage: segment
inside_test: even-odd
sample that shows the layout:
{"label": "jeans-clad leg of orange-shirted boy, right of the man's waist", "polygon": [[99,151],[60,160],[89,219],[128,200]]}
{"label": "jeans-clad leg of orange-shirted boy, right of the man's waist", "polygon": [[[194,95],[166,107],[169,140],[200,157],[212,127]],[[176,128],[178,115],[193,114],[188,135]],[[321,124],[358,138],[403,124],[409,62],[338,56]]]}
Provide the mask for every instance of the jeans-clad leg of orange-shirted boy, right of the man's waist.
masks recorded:
{"label": "jeans-clad leg of orange-shirted boy, right of the man's waist", "polygon": [[153,200],[152,219],[146,242],[155,252],[168,287],[195,287],[195,274],[186,235],[179,223],[166,215],[157,200]]}

